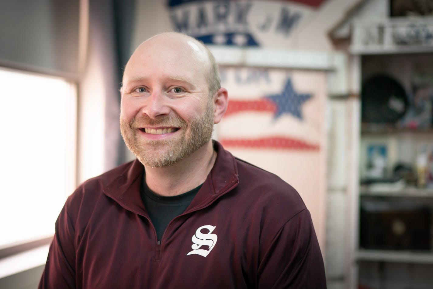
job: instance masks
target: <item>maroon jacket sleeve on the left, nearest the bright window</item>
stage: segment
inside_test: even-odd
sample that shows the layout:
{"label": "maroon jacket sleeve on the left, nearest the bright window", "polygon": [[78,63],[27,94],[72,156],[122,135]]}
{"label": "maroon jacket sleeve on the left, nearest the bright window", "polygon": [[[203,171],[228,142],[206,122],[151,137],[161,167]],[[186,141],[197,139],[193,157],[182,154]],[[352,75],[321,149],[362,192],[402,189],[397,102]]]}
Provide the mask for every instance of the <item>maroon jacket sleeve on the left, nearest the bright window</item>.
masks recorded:
{"label": "maroon jacket sleeve on the left, nearest the bright window", "polygon": [[74,226],[68,217],[67,204],[61,210],[55,223],[55,236],[38,288],[76,288]]}

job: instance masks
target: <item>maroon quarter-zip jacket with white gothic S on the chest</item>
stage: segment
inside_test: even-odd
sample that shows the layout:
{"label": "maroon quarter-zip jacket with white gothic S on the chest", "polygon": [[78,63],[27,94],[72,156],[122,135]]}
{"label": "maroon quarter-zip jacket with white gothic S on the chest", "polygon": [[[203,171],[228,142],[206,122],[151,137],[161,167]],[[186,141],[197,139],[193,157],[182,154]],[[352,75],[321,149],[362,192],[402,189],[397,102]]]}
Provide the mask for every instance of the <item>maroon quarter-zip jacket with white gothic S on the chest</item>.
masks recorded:
{"label": "maroon quarter-zip jacket with white gothic S on the chest", "polygon": [[296,190],[214,143],[212,171],[161,242],[140,198],[139,161],[84,182],[56,221],[39,288],[326,288]]}

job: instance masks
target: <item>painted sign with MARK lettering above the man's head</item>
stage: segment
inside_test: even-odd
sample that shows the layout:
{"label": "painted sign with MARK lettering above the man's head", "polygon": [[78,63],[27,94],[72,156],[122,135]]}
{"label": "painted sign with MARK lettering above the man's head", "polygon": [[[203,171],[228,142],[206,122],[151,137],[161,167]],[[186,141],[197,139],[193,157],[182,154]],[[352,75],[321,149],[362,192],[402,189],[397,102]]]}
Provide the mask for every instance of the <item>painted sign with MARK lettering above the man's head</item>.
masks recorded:
{"label": "painted sign with MARK lettering above the man's head", "polygon": [[287,40],[324,0],[168,0],[174,31],[205,44],[263,46]]}

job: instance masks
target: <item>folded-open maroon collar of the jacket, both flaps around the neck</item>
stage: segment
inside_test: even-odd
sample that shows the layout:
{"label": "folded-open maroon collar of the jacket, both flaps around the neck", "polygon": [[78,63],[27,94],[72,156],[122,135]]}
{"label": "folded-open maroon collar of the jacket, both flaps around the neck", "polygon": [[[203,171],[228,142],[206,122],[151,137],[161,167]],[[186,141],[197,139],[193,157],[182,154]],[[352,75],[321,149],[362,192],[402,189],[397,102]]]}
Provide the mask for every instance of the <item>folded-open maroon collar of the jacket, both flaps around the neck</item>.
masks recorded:
{"label": "folded-open maroon collar of the jacket, both flaps around the neck", "polygon": [[[186,212],[208,206],[239,184],[236,159],[218,141],[213,141],[213,148],[217,152],[215,164]],[[132,161],[103,189],[103,193],[125,209],[147,215],[140,197],[143,173],[143,165],[138,160]]]}

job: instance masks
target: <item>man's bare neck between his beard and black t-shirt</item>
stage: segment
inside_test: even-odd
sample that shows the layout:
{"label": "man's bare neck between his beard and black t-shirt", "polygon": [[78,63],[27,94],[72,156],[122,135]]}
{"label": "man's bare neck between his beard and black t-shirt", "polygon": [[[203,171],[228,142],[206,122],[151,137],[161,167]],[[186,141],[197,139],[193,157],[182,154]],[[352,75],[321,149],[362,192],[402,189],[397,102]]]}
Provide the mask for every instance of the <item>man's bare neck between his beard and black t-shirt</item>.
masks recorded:
{"label": "man's bare neck between his beard and black t-shirt", "polygon": [[213,167],[216,151],[212,141],[168,167],[145,167],[146,184],[162,196],[176,196],[202,184]]}

